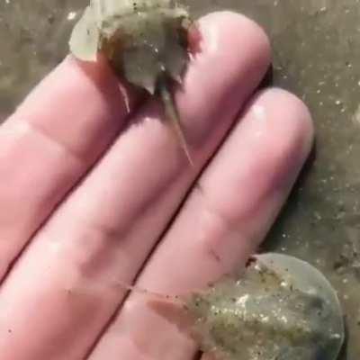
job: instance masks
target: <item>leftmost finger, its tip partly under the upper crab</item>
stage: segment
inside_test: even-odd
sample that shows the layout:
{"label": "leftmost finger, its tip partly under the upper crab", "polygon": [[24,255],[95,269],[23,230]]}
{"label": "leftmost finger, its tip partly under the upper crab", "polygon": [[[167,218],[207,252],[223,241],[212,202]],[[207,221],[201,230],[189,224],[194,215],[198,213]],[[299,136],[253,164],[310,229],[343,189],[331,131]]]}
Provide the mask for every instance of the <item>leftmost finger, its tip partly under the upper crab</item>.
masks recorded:
{"label": "leftmost finger, its tip partly under the upper crab", "polygon": [[127,115],[102,60],[67,58],[0,127],[0,279]]}

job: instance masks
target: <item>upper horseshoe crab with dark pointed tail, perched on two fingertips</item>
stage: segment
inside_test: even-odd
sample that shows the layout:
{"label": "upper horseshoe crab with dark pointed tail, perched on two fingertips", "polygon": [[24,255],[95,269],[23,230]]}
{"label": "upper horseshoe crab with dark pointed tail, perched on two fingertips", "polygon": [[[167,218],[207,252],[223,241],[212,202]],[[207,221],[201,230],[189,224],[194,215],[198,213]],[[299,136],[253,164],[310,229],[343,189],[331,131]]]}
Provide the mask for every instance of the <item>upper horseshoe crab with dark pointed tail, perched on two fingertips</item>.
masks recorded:
{"label": "upper horseshoe crab with dark pointed tail, perched on two fingertips", "polygon": [[96,61],[102,52],[130,84],[158,94],[193,164],[169,91],[170,80],[181,83],[189,60],[190,24],[187,9],[173,0],[91,0],[69,46],[83,61]]}

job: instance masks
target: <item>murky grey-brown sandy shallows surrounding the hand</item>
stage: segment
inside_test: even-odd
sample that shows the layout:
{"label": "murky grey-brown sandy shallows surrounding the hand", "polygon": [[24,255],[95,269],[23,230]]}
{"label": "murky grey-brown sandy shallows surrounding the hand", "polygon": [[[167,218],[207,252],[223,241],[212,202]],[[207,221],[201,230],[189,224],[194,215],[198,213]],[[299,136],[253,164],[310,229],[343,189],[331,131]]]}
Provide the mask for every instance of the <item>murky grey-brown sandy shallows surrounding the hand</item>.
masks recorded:
{"label": "murky grey-brown sandy shallows surrounding the hand", "polygon": [[[0,2],[0,120],[67,52],[86,0]],[[193,14],[233,9],[271,36],[275,85],[301,96],[317,128],[314,157],[266,248],[318,266],[347,312],[348,360],[360,358],[360,1],[189,0]]]}

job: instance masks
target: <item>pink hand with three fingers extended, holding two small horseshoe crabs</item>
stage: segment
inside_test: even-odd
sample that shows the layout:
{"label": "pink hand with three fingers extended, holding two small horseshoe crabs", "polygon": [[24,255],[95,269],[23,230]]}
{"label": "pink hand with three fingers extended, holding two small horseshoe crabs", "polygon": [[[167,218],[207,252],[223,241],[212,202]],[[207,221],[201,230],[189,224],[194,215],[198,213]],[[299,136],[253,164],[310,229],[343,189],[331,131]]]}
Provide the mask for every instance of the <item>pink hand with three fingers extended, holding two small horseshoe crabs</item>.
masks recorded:
{"label": "pink hand with three fingers extended, holding two small horseshoe crabs", "polygon": [[[256,23],[223,12],[198,26],[200,51],[175,94],[194,167],[156,100],[139,105],[127,89],[126,111],[101,58],[66,58],[0,128],[2,360],[196,356],[119,283],[186,293],[244,264],[313,134],[295,96],[256,92],[270,63]],[[189,191],[201,171],[203,191]]]}

